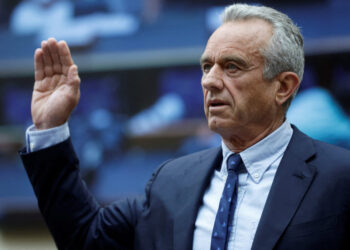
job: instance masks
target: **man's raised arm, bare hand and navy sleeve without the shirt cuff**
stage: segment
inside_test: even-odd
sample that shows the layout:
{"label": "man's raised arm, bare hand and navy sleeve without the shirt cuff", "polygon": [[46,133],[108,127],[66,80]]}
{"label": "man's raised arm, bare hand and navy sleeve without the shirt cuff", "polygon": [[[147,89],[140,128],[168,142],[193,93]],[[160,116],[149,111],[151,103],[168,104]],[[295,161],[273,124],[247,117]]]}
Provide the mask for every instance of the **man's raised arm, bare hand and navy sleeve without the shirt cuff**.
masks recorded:
{"label": "man's raised arm, bare hand and navy sleeve without the shirt cuff", "polygon": [[[64,124],[80,97],[69,48],[49,39],[35,52],[32,118],[37,130]],[[21,157],[59,249],[130,249],[140,200],[101,207],[81,180],[70,139]]]}

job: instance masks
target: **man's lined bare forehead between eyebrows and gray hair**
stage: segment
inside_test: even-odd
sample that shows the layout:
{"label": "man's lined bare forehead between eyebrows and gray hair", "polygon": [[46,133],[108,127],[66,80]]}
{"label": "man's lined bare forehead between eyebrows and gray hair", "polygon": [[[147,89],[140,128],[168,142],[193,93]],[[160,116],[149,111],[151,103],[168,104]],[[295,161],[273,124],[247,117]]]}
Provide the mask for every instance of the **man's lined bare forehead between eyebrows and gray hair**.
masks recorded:
{"label": "man's lined bare forehead between eyebrows and gray hair", "polygon": [[260,56],[273,34],[272,25],[260,19],[233,21],[222,24],[209,38],[203,57]]}

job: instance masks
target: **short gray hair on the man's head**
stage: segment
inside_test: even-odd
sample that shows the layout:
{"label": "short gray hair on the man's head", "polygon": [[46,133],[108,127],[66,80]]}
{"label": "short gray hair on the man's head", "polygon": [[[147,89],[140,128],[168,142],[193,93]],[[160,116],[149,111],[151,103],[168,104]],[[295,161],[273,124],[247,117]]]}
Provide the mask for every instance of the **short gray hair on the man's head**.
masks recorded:
{"label": "short gray hair on the man's head", "polygon": [[[298,75],[301,81],[304,74],[303,37],[299,28],[285,14],[265,6],[247,4],[232,4],[225,8],[222,14],[223,23],[262,19],[273,27],[273,35],[266,48],[260,52],[264,57],[263,77],[272,80],[282,72],[291,71]],[[286,103],[288,107],[296,95],[295,91]]]}

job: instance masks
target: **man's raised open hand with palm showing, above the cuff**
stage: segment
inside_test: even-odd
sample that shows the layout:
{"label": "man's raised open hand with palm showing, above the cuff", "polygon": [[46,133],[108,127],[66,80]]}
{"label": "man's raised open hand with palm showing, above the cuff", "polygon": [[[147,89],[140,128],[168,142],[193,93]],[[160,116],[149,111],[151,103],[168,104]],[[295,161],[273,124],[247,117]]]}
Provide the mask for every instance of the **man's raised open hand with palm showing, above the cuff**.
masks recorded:
{"label": "man's raised open hand with palm showing, above the cuff", "polygon": [[80,98],[78,68],[64,41],[50,38],[35,51],[32,119],[39,130],[65,123]]}

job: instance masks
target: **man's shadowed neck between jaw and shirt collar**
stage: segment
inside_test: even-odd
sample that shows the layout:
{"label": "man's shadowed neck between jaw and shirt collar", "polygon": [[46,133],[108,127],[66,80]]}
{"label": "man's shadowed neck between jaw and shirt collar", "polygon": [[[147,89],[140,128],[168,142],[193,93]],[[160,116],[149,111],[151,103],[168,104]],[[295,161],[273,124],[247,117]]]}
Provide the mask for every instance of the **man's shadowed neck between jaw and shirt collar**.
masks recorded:
{"label": "man's shadowed neck between jaw and shirt collar", "polygon": [[271,122],[268,126],[254,126],[253,128],[243,128],[230,136],[222,136],[222,139],[226,146],[235,153],[240,153],[245,149],[253,146],[266,136],[271,134],[277,128],[279,128],[284,122],[283,119],[279,119]]}

